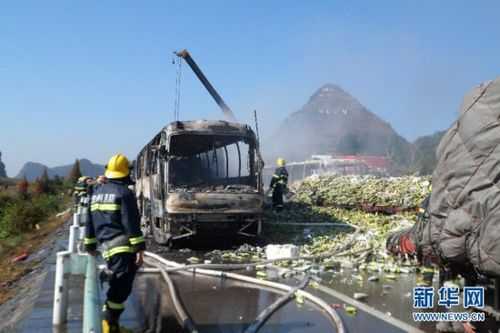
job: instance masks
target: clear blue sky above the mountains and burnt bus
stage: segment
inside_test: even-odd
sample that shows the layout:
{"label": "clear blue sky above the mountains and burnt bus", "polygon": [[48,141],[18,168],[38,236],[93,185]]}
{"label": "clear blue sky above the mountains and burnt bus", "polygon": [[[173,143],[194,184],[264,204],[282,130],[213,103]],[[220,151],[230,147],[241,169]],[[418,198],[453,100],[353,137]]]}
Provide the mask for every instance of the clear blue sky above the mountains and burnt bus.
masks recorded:
{"label": "clear blue sky above the mountains and burnt bus", "polygon": [[[187,48],[264,136],[341,85],[407,139],[444,129],[500,73],[499,1],[11,1],[0,4],[0,151],[26,161],[135,156],[173,119]],[[183,66],[182,119],[220,118]]]}

